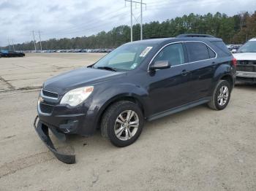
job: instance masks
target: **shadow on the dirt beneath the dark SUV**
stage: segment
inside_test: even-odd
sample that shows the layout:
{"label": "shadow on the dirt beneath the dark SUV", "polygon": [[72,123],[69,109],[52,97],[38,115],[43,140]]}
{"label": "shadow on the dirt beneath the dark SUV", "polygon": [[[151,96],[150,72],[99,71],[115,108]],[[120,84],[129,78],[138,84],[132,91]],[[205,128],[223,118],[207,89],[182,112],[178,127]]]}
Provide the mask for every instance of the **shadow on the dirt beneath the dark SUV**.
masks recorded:
{"label": "shadow on the dirt beneath the dark SUV", "polygon": [[[176,128],[178,123],[187,119],[188,116],[192,117],[195,112],[206,112],[211,111],[208,109],[206,105],[196,106],[192,109],[187,109],[183,112],[178,112],[176,114],[171,114],[166,117],[159,118],[157,120],[148,122],[146,121],[143,127],[143,131],[137,141],[134,144],[139,143],[140,141],[148,141],[148,139],[157,139],[154,136],[159,131],[165,132],[166,130],[170,130],[170,128]],[[181,127],[182,128],[182,127]],[[63,150],[64,152],[75,152],[77,154],[80,151],[87,150],[86,153],[89,155],[91,149],[97,148],[99,152],[105,149],[118,149],[117,147],[113,146],[108,139],[105,139],[101,136],[100,129],[98,128],[93,136],[79,136],[79,135],[69,135],[67,136],[67,141],[60,143],[59,140],[53,138],[54,144],[56,147]],[[140,144],[143,144],[140,142]],[[71,148],[72,147],[72,148]],[[90,148],[91,147],[91,148]],[[88,152],[89,151],[89,152]]]}

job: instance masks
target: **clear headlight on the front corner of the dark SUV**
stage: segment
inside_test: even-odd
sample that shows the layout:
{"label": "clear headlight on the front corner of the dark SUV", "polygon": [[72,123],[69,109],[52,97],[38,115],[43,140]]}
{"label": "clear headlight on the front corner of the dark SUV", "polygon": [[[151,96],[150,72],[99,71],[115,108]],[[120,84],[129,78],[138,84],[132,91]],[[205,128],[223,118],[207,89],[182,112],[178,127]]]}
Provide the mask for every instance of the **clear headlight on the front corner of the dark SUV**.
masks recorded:
{"label": "clear headlight on the front corner of the dark SUV", "polygon": [[63,98],[61,98],[61,104],[69,104],[69,106],[77,106],[81,104],[86,98],[91,95],[94,90],[93,86],[80,87],[74,90],[70,90],[65,93]]}

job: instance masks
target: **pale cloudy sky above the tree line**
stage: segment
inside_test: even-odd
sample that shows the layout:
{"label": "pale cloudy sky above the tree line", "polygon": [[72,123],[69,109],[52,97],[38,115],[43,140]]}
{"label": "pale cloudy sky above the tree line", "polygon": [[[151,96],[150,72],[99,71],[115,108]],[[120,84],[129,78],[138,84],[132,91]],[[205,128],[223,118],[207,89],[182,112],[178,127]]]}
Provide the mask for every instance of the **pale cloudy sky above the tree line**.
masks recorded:
{"label": "pale cloudy sky above the tree line", "polygon": [[[140,1],[140,0],[134,0]],[[184,14],[222,12],[229,16],[255,12],[255,0],[143,0],[143,23]],[[140,22],[140,4],[133,6],[133,23]],[[0,0],[0,47],[33,39],[90,36],[130,25],[130,3],[124,0]]]}

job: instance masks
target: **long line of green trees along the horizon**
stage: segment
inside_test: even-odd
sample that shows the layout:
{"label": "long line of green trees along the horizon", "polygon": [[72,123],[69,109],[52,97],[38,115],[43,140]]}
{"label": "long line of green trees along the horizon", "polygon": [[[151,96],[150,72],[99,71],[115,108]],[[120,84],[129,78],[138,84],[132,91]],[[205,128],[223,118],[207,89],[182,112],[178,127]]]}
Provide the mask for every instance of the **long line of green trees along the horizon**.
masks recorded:
{"label": "long line of green trees along the horizon", "polygon": [[[140,39],[140,25],[133,26],[133,39]],[[206,15],[183,15],[163,22],[153,21],[143,24],[143,39],[177,36],[178,34],[211,34],[222,38],[226,44],[243,44],[256,37],[256,11],[252,14],[241,12],[227,16],[225,13]],[[115,48],[130,41],[130,27],[118,26],[101,31],[96,35],[72,39],[48,39],[42,41],[43,50]],[[2,47],[8,50],[8,47]],[[39,42],[37,42],[39,49]],[[34,42],[15,44],[15,50],[34,50]]]}

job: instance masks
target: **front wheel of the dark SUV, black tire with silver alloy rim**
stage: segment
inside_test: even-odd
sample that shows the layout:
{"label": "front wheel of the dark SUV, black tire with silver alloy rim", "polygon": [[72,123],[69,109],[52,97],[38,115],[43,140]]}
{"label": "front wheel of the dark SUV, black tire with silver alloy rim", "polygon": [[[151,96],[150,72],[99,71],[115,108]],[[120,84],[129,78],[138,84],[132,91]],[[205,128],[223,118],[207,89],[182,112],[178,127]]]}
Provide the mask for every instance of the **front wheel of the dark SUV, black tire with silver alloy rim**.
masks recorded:
{"label": "front wheel of the dark SUV, black tire with silver alloy rim", "polygon": [[[130,119],[127,119],[128,114],[131,116]],[[101,133],[116,147],[127,147],[138,139],[143,124],[143,113],[137,104],[131,101],[118,101],[110,105],[103,114]]]}

